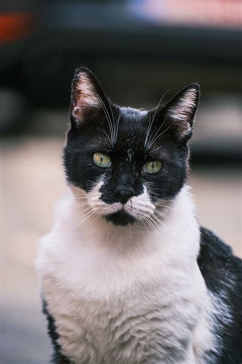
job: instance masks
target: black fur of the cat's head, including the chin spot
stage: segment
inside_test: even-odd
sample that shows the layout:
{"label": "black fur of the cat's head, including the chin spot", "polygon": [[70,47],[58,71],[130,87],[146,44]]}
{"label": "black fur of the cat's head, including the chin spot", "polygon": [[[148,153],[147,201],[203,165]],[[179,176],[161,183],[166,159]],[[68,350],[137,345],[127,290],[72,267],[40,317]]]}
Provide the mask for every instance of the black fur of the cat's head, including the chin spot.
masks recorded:
{"label": "black fur of the cat's head, including the chin spot", "polygon": [[[80,90],[76,91],[78,80],[81,80],[83,74],[90,81],[94,90],[93,95],[99,95],[102,99],[108,115],[103,108],[86,105],[82,100],[82,98],[85,99],[85,95],[82,95]],[[91,72],[85,68],[78,70],[72,83],[71,127],[64,149],[64,165],[68,182],[89,191],[95,181],[104,175],[105,183],[100,191],[101,199],[107,204],[119,202],[119,196],[115,191],[117,189],[125,191],[127,186],[132,188],[134,195],[140,195],[143,192],[143,184],[146,182],[152,185],[152,189],[149,190],[152,201],[157,201],[158,198],[167,200],[174,198],[186,181],[187,140],[191,136],[191,129],[185,136],[182,135],[184,129],[182,130],[181,125],[174,122],[169,111],[190,90],[193,90],[196,95],[192,100],[195,106],[187,115],[187,125],[192,126],[199,99],[197,84],[183,89],[165,106],[144,113],[111,103]],[[82,106],[82,113],[79,106],[80,109]],[[114,127],[115,123],[118,123],[117,140],[114,145],[110,145],[111,132],[108,117],[111,123],[113,118]],[[152,125],[150,136],[155,140],[150,148],[147,148],[145,141],[150,124]],[[129,160],[130,149],[132,155]],[[96,152],[104,153],[111,158],[112,164],[109,168],[102,168],[93,163],[92,155]],[[162,169],[154,174],[144,173],[143,164],[152,160],[162,161]],[[119,213],[106,216],[106,219],[120,225],[134,222],[134,219],[126,212],[122,212],[120,216]]]}

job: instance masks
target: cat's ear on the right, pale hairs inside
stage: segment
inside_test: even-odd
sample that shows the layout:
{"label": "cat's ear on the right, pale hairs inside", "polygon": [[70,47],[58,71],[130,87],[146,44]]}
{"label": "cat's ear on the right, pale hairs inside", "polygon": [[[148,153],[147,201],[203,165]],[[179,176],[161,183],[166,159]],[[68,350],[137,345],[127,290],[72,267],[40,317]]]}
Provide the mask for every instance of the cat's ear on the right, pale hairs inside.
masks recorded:
{"label": "cat's ear on the right, pale hairs inside", "polygon": [[192,123],[198,107],[200,88],[197,83],[178,92],[162,108],[163,117],[172,125],[180,139],[188,140],[192,135]]}

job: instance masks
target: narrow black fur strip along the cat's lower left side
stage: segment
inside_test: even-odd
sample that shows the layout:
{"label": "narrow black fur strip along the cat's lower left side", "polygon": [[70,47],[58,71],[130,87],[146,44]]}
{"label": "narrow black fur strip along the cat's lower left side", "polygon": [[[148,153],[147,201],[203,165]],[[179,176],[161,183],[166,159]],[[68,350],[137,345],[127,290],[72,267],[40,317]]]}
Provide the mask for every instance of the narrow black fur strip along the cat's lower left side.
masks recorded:
{"label": "narrow black fur strip along the cat's lower left side", "polygon": [[42,300],[42,312],[45,314],[48,322],[48,334],[51,337],[52,345],[54,347],[54,354],[51,362],[53,364],[71,364],[71,361],[61,353],[61,346],[58,344],[59,334],[57,332],[55,319],[50,315],[47,309],[47,303]]}

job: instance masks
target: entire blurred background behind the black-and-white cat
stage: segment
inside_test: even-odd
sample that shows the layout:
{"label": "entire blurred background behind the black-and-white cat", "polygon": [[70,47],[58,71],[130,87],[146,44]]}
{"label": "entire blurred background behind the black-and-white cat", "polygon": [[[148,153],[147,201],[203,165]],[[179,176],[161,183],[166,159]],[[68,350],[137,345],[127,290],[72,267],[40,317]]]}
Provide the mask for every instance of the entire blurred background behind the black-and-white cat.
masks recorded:
{"label": "entire blurred background behind the black-and-white cat", "polygon": [[1,2],[2,364],[50,358],[34,262],[66,191],[61,148],[80,65],[114,102],[137,108],[201,84],[190,177],[198,217],[241,256],[241,5]]}

